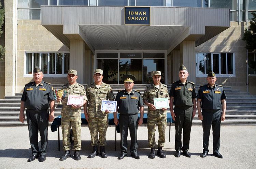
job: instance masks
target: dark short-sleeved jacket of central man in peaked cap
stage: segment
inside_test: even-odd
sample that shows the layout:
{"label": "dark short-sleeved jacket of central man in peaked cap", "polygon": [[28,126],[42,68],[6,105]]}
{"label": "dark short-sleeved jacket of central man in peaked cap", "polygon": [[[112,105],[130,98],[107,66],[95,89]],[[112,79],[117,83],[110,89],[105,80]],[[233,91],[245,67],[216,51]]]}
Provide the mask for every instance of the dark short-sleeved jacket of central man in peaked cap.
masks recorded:
{"label": "dark short-sleeved jacket of central man in peaked cap", "polygon": [[118,112],[120,114],[137,114],[141,106],[144,106],[141,94],[137,90],[131,91],[130,94],[126,90],[120,90],[116,99]]}

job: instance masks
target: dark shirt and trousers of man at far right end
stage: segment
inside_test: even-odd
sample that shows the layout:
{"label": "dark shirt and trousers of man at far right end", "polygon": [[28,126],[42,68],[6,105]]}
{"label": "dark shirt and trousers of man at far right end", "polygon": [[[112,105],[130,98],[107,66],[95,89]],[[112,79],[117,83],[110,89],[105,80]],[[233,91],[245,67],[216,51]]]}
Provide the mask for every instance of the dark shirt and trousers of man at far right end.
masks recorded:
{"label": "dark shirt and trousers of man at far right end", "polygon": [[209,152],[209,136],[212,125],[213,153],[219,153],[219,137],[221,133],[221,100],[227,96],[221,85],[215,84],[210,87],[208,84],[199,88],[197,98],[202,101],[202,126],[203,126],[203,152]]}

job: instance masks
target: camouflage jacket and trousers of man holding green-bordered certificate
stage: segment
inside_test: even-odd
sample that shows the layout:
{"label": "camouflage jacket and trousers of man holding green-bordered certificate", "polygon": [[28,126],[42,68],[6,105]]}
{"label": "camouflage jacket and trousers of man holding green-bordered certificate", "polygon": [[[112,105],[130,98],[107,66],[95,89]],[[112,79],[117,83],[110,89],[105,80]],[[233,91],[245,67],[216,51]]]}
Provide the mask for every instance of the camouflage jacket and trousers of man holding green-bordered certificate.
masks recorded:
{"label": "camouflage jacket and trousers of man holding green-bordered certificate", "polygon": [[[165,84],[160,83],[159,89],[150,84],[145,88],[143,99],[148,100],[148,103],[154,104],[154,98],[165,98],[170,99],[168,89]],[[162,109],[147,110],[147,130],[148,130],[148,147],[155,148],[155,132],[156,125],[158,126],[158,147],[163,147],[165,144],[165,128],[167,125],[167,111]]]}

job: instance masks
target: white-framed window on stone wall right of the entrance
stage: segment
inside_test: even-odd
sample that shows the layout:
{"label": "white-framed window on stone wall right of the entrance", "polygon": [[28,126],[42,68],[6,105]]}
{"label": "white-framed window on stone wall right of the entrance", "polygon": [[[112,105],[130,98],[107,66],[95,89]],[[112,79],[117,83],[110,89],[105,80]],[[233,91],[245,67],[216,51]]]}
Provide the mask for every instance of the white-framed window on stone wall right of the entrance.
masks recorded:
{"label": "white-framed window on stone wall right of the entrance", "polygon": [[218,75],[234,75],[234,54],[196,53],[197,75],[208,75],[210,71]]}

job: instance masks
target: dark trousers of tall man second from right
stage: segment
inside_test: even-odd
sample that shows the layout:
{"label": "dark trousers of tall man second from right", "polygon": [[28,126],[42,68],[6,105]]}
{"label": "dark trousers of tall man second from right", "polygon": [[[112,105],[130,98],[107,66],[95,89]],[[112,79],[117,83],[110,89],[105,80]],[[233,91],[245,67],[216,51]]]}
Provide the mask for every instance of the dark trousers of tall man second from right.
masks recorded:
{"label": "dark trousers of tall man second from right", "polygon": [[[188,150],[192,126],[193,107],[174,107],[175,117],[175,150]],[[183,129],[183,146],[181,134]]]}

